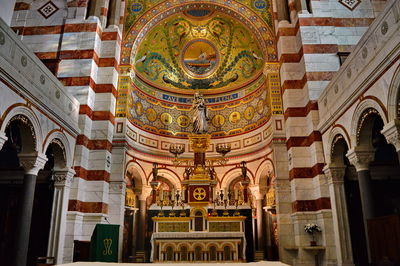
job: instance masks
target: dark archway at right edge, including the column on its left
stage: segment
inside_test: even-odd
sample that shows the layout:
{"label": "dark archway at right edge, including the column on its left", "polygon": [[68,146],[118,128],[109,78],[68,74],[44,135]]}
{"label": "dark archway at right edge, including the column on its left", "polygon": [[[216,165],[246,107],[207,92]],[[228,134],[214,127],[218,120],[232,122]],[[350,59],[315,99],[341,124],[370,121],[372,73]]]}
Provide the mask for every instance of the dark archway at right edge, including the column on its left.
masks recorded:
{"label": "dark archway at right edge, including the column on its left", "polygon": [[381,133],[383,126],[377,110],[365,109],[357,121],[357,145],[347,154],[357,171],[368,259],[377,264],[400,263],[393,249],[400,246],[400,168],[394,146]]}

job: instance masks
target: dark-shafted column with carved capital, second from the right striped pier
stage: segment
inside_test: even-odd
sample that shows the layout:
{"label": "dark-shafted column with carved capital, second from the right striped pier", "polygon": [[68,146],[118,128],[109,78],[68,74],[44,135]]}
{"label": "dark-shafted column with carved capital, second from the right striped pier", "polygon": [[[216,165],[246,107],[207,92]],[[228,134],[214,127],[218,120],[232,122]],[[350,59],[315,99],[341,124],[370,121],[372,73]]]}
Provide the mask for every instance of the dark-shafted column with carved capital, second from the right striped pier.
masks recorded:
{"label": "dark-shafted column with carved capital, second from the right striped pier", "polygon": [[369,164],[374,160],[374,153],[368,149],[352,148],[346,154],[350,163],[354,165],[358,176],[360,188],[361,207],[364,218],[365,238],[368,248],[368,260],[371,262],[371,251],[368,237],[368,219],[375,217],[374,201],[372,197],[372,180],[369,171]]}

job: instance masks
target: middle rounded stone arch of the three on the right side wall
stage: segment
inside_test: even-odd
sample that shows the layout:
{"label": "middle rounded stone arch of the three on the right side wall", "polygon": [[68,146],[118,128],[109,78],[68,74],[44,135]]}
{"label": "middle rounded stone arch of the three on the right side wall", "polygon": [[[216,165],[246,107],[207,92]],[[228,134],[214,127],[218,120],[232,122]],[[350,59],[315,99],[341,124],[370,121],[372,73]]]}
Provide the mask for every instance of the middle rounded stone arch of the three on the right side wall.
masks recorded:
{"label": "middle rounded stone arch of the three on the right side wall", "polygon": [[363,101],[361,101],[357,105],[353,113],[353,117],[351,119],[350,138],[351,138],[351,143],[354,143],[355,146],[359,145],[358,130],[362,127],[362,122],[366,118],[365,112],[367,110],[374,110],[373,112],[376,112],[376,114],[378,114],[381,117],[384,124],[388,122],[386,119],[387,117],[385,111],[382,109],[381,105],[376,100],[372,98],[366,98]]}

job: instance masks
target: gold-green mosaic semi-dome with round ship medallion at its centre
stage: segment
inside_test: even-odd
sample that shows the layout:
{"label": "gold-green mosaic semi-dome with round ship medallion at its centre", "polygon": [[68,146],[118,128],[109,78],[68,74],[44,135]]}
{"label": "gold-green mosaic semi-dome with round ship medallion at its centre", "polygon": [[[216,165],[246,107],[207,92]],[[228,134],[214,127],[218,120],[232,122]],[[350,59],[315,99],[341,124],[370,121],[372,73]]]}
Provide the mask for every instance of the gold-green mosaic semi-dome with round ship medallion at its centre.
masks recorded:
{"label": "gold-green mosaic semi-dome with round ship medallion at its centre", "polygon": [[240,88],[259,77],[265,61],[246,26],[207,9],[187,10],[161,21],[131,58],[137,78],[174,92]]}

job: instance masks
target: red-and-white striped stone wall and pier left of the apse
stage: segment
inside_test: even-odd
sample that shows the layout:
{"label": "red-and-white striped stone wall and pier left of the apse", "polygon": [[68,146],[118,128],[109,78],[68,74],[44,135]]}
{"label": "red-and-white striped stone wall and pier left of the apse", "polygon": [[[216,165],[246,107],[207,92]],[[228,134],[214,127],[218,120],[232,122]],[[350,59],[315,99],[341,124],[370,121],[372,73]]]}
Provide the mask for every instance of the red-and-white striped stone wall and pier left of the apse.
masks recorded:
{"label": "red-and-white striped stone wall and pier left of the apse", "polygon": [[11,26],[80,102],[64,252],[68,262],[73,240],[89,240],[94,225],[109,214],[121,32],[119,25],[105,27],[109,1],[98,1],[100,13],[88,19],[88,0],[52,0],[58,10],[46,18],[39,9],[47,2],[17,1]]}

